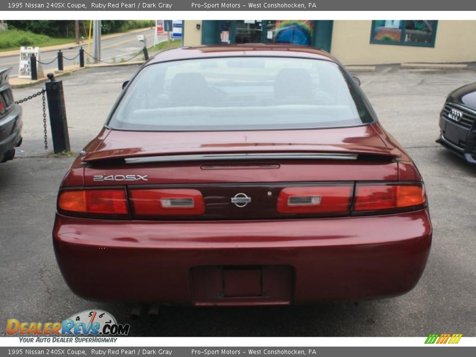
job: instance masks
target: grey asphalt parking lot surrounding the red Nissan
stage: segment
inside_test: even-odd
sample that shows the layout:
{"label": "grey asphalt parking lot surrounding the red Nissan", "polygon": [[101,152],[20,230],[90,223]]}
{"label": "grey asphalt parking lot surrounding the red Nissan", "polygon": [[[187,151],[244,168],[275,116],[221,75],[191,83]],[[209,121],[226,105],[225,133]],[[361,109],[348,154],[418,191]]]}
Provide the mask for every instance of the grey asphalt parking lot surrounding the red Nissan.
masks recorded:
{"label": "grey asphalt parking lot surrounding the red Nissan", "polygon": [[[96,68],[62,78],[73,151],[96,135],[122,81],[136,69]],[[6,334],[8,318],[60,321],[100,308],[119,323],[130,323],[133,336],[475,336],[476,167],[441,148],[435,139],[445,96],[475,82],[476,71],[381,66],[376,72],[356,74],[380,121],[408,149],[426,183],[433,245],[413,291],[357,305],[166,306],[157,318],[144,315],[135,320],[128,316],[129,306],[74,296],[61,277],[51,241],[57,189],[73,159],[45,154],[41,101],[36,98],[23,105],[21,152],[15,160],[0,164],[0,335]],[[15,89],[15,99],[38,88]]]}

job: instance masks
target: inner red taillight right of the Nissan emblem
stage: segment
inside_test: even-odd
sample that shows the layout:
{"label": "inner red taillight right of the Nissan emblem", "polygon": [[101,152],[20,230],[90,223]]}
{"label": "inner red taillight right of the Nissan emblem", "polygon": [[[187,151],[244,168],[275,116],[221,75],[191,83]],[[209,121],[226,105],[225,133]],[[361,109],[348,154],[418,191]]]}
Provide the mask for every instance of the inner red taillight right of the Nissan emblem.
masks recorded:
{"label": "inner red taillight right of the Nissan emblem", "polygon": [[277,209],[279,213],[347,213],[353,188],[352,184],[283,188]]}

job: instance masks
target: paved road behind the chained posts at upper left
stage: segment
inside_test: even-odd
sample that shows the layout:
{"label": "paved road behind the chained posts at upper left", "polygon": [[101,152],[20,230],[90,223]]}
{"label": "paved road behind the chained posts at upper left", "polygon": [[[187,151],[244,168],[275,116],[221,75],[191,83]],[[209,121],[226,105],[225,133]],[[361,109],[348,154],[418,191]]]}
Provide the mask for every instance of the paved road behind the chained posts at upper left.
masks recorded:
{"label": "paved road behind the chained posts at upper left", "polygon": [[[134,32],[134,33],[125,33],[122,36],[114,37],[110,39],[104,39],[101,43],[101,59],[112,62],[116,60],[120,62],[123,60],[128,60],[133,56],[135,52],[141,50],[144,46],[142,42],[137,41],[137,35],[144,35],[146,37],[147,46],[151,46],[154,44],[154,30],[148,29],[141,32]],[[166,36],[161,36],[160,40],[166,40]],[[83,42],[83,49],[87,51],[88,42],[87,40]],[[79,58],[75,58],[79,52],[79,47],[70,48],[67,50],[62,50],[63,52],[63,65],[73,65],[79,64]],[[58,51],[49,51],[49,52],[41,52],[40,60],[43,63],[48,63],[54,60],[57,57]],[[90,53],[94,54],[93,45],[91,44]],[[73,59],[74,60],[68,60]],[[92,60],[92,59],[91,59]],[[11,66],[13,67],[12,70],[12,77],[16,76],[18,73],[18,56],[11,56],[11,57],[3,57],[0,58],[0,67],[4,66]],[[58,68],[58,62],[55,60],[53,63],[44,64],[43,70],[46,71],[48,69]]]}

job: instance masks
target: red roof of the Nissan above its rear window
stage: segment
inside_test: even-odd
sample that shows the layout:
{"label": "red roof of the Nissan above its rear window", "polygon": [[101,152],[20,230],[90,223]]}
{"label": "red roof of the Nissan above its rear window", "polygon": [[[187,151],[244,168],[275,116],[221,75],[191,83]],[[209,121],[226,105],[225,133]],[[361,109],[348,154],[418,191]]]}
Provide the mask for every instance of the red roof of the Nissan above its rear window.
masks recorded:
{"label": "red roof of the Nissan above its rear window", "polygon": [[289,44],[240,44],[181,47],[161,52],[150,59],[148,63],[237,56],[298,57],[338,62],[338,60],[327,52],[310,46]]}

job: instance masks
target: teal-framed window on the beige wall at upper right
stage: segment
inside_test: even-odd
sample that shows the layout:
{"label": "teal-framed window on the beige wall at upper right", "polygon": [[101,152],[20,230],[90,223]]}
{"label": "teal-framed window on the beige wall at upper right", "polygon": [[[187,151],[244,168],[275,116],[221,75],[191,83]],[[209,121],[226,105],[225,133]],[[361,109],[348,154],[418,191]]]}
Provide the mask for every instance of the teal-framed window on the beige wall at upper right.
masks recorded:
{"label": "teal-framed window on the beige wall at upper right", "polygon": [[370,43],[434,47],[436,20],[374,20]]}

